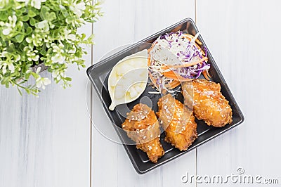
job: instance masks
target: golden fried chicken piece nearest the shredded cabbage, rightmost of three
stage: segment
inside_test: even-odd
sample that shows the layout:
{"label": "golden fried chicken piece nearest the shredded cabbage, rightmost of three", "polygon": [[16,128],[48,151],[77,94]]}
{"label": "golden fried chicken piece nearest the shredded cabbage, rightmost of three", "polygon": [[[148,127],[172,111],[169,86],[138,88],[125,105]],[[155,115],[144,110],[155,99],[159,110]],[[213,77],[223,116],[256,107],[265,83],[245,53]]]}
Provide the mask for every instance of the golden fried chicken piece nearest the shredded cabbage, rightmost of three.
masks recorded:
{"label": "golden fried chicken piece nearest the shredded cabbage, rightmost of three", "polygon": [[[232,120],[232,110],[226,98],[221,94],[221,85],[206,79],[195,79],[192,82],[183,82],[183,96],[186,105],[192,103],[193,112],[199,120],[208,125],[224,127]],[[193,89],[193,91],[191,91]]]}

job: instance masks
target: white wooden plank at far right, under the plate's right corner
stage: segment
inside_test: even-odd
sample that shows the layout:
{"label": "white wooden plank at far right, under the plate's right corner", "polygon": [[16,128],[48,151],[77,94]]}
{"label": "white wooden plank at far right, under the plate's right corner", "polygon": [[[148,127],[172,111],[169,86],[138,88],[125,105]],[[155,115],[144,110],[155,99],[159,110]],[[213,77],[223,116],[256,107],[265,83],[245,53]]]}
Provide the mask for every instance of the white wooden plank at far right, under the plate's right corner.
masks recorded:
{"label": "white wooden plank at far right, under the plate's right corner", "polygon": [[226,176],[242,167],[263,179],[280,176],[280,6],[280,1],[197,0],[197,25],[246,119],[197,148],[197,174]]}

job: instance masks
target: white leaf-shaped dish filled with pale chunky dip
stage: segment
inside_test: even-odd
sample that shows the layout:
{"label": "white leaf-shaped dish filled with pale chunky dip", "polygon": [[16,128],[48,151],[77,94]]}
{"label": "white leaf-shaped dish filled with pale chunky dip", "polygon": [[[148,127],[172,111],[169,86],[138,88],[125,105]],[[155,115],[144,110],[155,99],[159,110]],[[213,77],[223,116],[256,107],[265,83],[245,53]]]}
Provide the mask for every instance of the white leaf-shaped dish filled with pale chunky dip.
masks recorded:
{"label": "white leaf-shaped dish filled with pale chunky dip", "polygon": [[134,53],[120,60],[108,77],[110,110],[117,105],[136,100],[145,91],[148,82],[148,50]]}

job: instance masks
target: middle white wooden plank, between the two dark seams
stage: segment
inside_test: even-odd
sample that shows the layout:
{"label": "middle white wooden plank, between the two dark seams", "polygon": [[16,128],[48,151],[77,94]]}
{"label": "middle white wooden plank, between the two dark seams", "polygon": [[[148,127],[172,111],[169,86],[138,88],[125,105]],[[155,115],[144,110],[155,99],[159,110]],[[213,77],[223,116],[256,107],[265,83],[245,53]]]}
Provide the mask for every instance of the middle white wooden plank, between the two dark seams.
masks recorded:
{"label": "middle white wooden plank, between the two dark seams", "polygon": [[[105,1],[105,15],[95,24],[94,62],[124,44],[132,44],[183,18],[195,18],[195,1]],[[108,125],[102,105],[93,91],[92,117]],[[139,175],[133,169],[122,145],[112,143],[93,128],[92,186],[184,186],[181,176],[195,174],[195,151]]]}

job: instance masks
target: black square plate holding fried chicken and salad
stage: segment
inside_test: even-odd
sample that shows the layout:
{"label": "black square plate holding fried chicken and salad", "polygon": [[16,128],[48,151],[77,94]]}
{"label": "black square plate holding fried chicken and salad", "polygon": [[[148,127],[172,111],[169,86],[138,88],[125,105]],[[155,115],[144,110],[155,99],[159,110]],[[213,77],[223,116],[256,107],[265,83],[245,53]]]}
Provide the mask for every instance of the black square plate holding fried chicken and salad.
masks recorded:
{"label": "black square plate holding fried chicken and salad", "polygon": [[[174,158],[180,155],[188,153],[190,150],[197,148],[197,146],[200,146],[203,143],[211,140],[211,138],[215,138],[216,136],[223,134],[224,132],[228,131],[229,129],[232,129],[233,127],[236,127],[238,124],[241,124],[244,121],[244,117],[242,115],[239,106],[237,105],[235,99],[233,98],[233,95],[230,92],[230,89],[228,88],[226,81],[223,79],[223,75],[221,75],[220,70],[218,70],[214,58],[211,56],[211,53],[209,52],[208,61],[211,64],[209,74],[211,75],[212,81],[221,84],[221,92],[223,93],[223,96],[225,96],[226,99],[229,101],[230,106],[233,109],[233,122],[231,124],[227,124],[225,127],[215,128],[215,127],[209,127],[201,120],[197,120],[198,138],[195,140],[194,143],[192,143],[192,146],[190,146],[188,150],[182,152],[174,148],[174,146],[171,146],[171,144],[166,143],[164,141],[164,133],[162,133],[160,136],[160,141],[165,150],[165,155],[161,157],[156,164],[150,162],[148,160],[147,155],[143,151],[136,149],[136,146],[126,145],[126,142],[130,141],[128,140],[129,138],[126,136],[126,133],[124,133],[124,131],[120,130],[120,128],[117,128],[117,127],[121,127],[121,124],[122,122],[124,122],[125,119],[124,117],[119,115],[119,113],[116,110],[110,111],[108,109],[111,103],[110,95],[107,90],[108,75],[112,70],[112,67],[116,63],[118,63],[119,60],[122,60],[122,58],[129,56],[133,53],[136,53],[138,51],[142,51],[143,49],[149,49],[152,42],[155,41],[155,39],[157,39],[157,37],[159,37],[160,35],[169,32],[177,32],[178,30],[181,30],[183,32],[192,35],[195,35],[198,32],[195,22],[193,22],[192,19],[187,18],[185,20],[182,20],[181,22],[171,25],[170,27],[160,32],[157,32],[156,34],[152,34],[152,36],[143,39],[142,41],[138,41],[136,44],[133,44],[127,47],[126,49],[123,49],[122,51],[113,54],[112,56],[109,56],[101,60],[95,65],[89,67],[87,70],[87,75],[89,76],[89,79],[91,79],[91,82],[98,93],[100,101],[103,102],[103,107],[105,109],[105,112],[107,113],[107,116],[110,118],[113,126],[115,127],[115,130],[117,131],[117,134],[121,139],[124,148],[130,157],[131,162],[133,163],[133,167],[135,167],[136,172],[138,172],[139,174],[144,174],[145,172],[148,172],[152,169],[155,169],[156,167],[159,167],[159,165],[163,165],[164,163],[169,162],[170,160],[173,160]],[[198,39],[202,42],[204,46],[207,47],[201,35],[198,37]],[[207,50],[209,51],[208,48]],[[155,112],[157,112],[157,104],[155,103],[157,103],[160,96],[149,94],[148,91],[152,91],[152,90],[153,89],[151,88],[151,86],[147,86],[142,96],[148,96],[151,99],[153,104],[152,110],[155,110]],[[179,95],[176,96],[176,98],[182,101],[181,93],[178,94]],[[127,103],[126,105],[129,107],[129,109],[132,109],[133,106],[136,105],[137,103],[140,103],[138,99],[131,103]]]}

